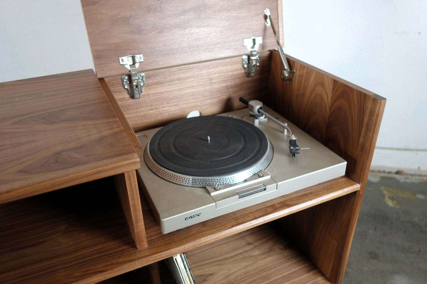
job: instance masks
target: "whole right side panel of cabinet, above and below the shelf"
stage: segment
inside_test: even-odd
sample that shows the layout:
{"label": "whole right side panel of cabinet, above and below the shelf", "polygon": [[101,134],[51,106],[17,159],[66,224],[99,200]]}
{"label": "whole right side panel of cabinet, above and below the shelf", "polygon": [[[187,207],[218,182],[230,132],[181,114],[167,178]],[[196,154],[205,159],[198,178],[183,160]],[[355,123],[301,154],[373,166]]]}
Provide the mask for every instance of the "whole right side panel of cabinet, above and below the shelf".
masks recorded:
{"label": "whole right side panel of cabinet, above and below the shelf", "polygon": [[284,218],[287,230],[333,283],[341,283],[386,99],[290,58],[291,84],[273,52],[273,109],[347,161],[360,191]]}

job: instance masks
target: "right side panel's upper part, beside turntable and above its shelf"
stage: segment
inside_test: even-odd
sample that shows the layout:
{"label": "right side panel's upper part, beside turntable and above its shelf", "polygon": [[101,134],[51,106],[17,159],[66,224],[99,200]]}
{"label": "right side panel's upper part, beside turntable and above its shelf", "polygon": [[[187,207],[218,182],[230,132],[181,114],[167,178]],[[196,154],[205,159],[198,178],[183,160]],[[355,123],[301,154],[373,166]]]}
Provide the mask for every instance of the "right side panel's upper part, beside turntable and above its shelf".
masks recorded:
{"label": "right side panel's upper part, beside turntable and above its shelf", "polygon": [[286,84],[272,52],[269,105],[345,159],[346,175],[364,183],[386,99],[301,61],[290,64],[295,76]]}

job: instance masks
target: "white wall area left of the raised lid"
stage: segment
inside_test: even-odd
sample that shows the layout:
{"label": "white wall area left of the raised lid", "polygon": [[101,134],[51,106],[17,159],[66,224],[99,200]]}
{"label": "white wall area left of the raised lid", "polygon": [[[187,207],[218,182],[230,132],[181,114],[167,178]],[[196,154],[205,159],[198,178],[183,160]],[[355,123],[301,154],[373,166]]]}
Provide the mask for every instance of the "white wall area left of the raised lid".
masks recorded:
{"label": "white wall area left of the raised lid", "polygon": [[94,69],[79,0],[0,0],[0,82]]}

